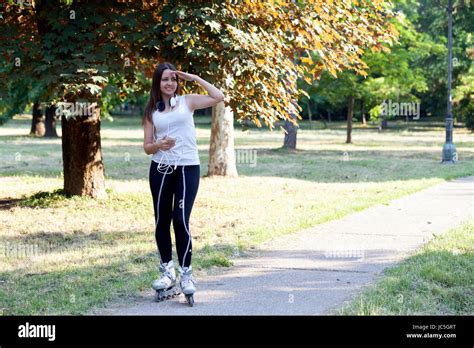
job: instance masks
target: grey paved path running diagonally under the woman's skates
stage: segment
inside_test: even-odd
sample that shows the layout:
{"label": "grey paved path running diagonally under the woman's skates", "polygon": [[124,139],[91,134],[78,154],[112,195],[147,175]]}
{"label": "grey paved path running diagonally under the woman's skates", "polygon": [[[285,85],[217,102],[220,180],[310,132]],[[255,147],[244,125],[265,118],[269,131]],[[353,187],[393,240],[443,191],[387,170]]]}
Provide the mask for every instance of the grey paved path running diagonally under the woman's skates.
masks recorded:
{"label": "grey paved path running diagonally under the woman's skates", "polygon": [[[356,199],[356,197],[354,197]],[[382,271],[433,235],[474,217],[474,176],[291,234],[198,279],[184,296],[153,302],[147,291],[105,315],[321,315],[333,313]]]}

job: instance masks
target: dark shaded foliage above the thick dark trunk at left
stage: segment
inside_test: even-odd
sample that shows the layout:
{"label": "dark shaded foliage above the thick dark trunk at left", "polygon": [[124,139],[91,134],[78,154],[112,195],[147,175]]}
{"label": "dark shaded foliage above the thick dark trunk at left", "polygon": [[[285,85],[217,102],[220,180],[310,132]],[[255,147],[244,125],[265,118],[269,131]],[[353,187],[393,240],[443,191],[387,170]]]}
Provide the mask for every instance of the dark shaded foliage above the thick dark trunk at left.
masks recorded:
{"label": "dark shaded foliage above the thick dark trunk at left", "polygon": [[150,68],[147,58],[156,52],[142,47],[158,5],[110,0],[31,4],[10,1],[3,9],[0,87],[7,112],[0,122],[35,100],[100,101],[109,79],[109,90],[127,90],[146,70],[145,63]]}

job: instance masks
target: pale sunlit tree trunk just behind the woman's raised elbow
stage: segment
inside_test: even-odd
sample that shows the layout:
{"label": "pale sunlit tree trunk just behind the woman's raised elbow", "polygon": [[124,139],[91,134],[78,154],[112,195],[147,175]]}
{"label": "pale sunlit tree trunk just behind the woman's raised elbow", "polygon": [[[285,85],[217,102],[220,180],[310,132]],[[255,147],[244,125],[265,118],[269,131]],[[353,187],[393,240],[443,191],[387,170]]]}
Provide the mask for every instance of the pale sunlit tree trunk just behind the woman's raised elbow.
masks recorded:
{"label": "pale sunlit tree trunk just behind the woman's raised elbow", "polygon": [[224,102],[212,108],[207,175],[238,176],[234,151],[234,113]]}

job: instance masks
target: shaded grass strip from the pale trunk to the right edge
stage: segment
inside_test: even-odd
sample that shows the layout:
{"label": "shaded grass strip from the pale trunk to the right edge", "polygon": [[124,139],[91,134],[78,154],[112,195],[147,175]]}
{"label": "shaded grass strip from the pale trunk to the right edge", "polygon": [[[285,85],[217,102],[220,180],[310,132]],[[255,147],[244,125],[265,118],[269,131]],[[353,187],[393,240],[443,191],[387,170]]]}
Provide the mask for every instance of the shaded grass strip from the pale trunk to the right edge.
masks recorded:
{"label": "shaded grass strip from the pale trunk to the right edge", "polygon": [[256,162],[254,167],[238,164],[239,174],[318,183],[453,179],[474,174],[474,154],[463,155],[455,165],[441,165],[440,153],[421,151],[258,149]]}

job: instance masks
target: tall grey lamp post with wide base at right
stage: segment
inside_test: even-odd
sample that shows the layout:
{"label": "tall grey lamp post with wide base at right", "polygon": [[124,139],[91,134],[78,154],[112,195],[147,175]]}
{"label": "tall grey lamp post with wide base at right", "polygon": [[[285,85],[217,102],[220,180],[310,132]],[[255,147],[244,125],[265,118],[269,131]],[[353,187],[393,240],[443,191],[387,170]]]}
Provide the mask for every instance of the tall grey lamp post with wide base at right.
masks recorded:
{"label": "tall grey lamp post with wide base at right", "polygon": [[443,146],[441,163],[455,163],[458,160],[456,146],[453,144],[453,105],[451,81],[453,74],[453,0],[448,4],[448,107],[446,115],[446,142]]}

